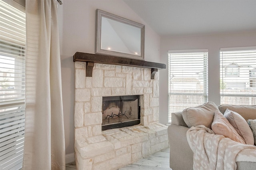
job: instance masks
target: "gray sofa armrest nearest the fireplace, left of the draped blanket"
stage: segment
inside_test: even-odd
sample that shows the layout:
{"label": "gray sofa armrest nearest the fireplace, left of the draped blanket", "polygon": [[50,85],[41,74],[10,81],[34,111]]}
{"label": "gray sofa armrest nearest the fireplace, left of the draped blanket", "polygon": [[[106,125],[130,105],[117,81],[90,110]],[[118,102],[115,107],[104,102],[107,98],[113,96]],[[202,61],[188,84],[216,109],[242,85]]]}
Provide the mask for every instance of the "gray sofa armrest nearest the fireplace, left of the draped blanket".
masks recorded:
{"label": "gray sofa armrest nearest the fireplace, left of the draped blanket", "polygon": [[193,169],[193,151],[188,145],[186,132],[188,127],[171,124],[168,126],[170,145],[170,168],[174,170]]}

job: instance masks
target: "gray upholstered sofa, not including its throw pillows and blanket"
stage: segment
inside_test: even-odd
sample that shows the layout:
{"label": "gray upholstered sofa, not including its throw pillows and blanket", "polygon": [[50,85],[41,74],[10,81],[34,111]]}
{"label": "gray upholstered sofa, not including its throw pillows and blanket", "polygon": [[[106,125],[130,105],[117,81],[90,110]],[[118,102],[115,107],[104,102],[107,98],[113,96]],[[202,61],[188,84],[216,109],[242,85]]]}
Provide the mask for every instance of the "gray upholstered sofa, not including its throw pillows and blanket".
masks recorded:
{"label": "gray upholstered sofa, not including its throw pillows and blanket", "polygon": [[[227,108],[239,113],[246,120],[256,119],[256,106],[218,106],[218,109],[222,114],[224,114]],[[182,111],[172,113],[172,122],[168,126],[168,139],[170,145],[170,168],[173,170],[193,169],[193,152],[190,149],[186,138],[186,132],[188,129],[189,127],[183,119]],[[256,169],[255,162],[236,162],[236,165],[238,170]]]}

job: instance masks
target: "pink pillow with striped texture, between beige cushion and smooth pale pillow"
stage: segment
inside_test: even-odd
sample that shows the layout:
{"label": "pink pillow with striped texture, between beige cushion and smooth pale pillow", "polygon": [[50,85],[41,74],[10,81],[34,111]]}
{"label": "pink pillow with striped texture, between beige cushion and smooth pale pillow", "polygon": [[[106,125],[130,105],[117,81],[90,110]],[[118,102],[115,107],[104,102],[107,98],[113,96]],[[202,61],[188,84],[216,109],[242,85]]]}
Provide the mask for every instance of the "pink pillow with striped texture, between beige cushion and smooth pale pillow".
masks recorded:
{"label": "pink pillow with striped texture, between beige cushion and smooth pale pillow", "polygon": [[215,134],[223,135],[233,141],[245,144],[244,139],[237,133],[236,129],[234,129],[234,127],[228,122],[228,119],[226,119],[219,110],[215,111],[212,122],[212,131],[214,131]]}

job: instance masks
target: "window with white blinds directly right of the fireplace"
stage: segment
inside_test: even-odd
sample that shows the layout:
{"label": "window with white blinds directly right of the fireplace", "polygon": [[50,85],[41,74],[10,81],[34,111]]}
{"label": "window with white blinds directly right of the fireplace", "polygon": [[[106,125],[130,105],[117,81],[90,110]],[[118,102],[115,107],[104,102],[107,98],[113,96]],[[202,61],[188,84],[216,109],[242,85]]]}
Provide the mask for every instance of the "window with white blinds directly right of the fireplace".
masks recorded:
{"label": "window with white blinds directly right of the fireplace", "polygon": [[169,51],[169,111],[181,111],[208,101],[208,50]]}

